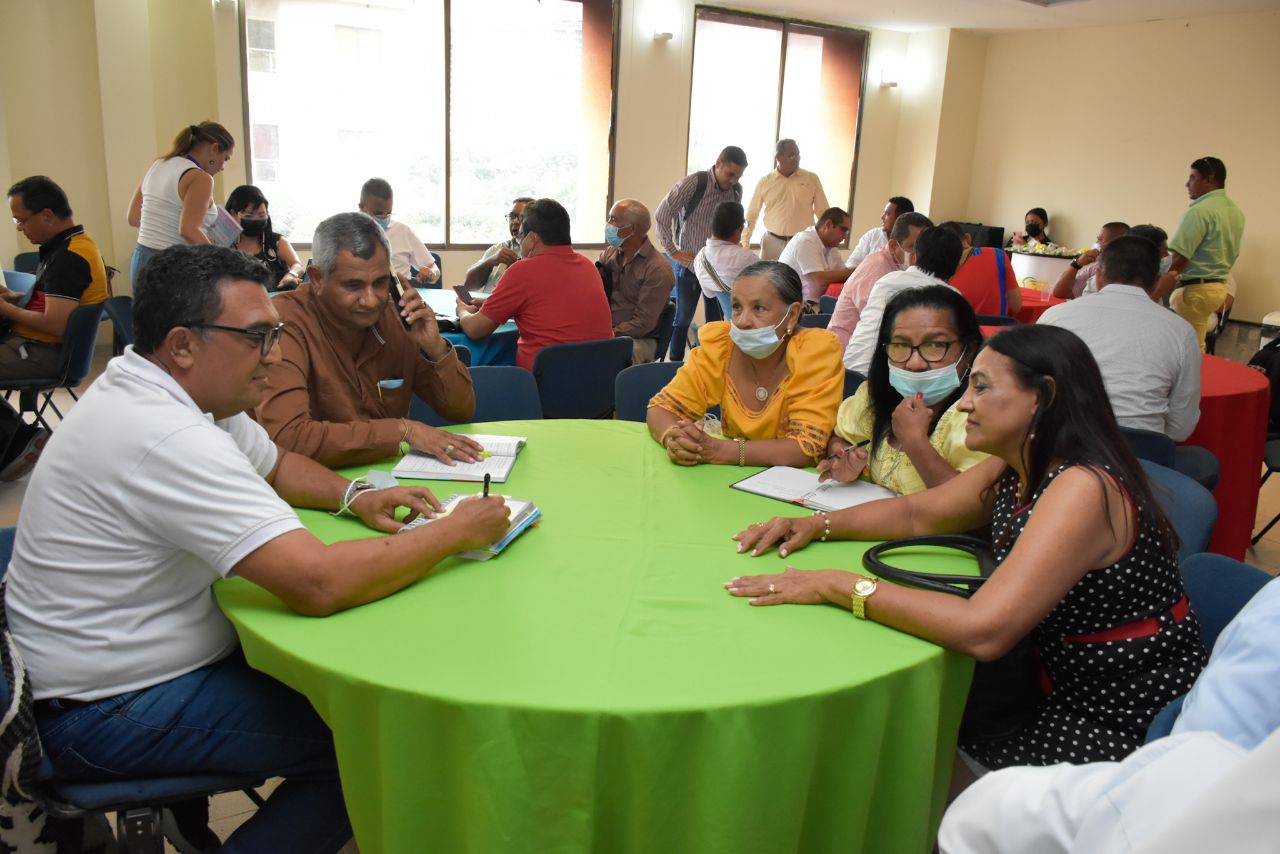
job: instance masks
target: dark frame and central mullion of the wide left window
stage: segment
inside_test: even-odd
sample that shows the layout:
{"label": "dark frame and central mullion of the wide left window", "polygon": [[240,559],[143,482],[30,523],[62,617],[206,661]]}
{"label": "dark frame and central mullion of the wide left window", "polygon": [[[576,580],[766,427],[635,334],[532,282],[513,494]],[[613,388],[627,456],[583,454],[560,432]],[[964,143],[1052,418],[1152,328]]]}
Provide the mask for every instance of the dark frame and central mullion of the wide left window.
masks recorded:
{"label": "dark frame and central mullion of the wide left window", "polygon": [[[458,0],[465,3],[466,0]],[[581,0],[579,0],[581,1]],[[612,17],[613,29],[609,38],[609,132],[608,140],[608,155],[609,166],[608,174],[605,177],[605,207],[608,211],[613,207],[613,202],[617,196],[614,188],[616,169],[617,169],[617,133],[618,133],[618,59],[621,55],[618,45],[618,35],[621,32],[622,23],[622,4],[626,0],[608,0],[609,12]],[[451,27],[453,26],[452,6],[453,0],[443,0],[444,4],[444,17],[442,19],[442,35],[444,38],[443,46],[443,61],[444,61],[444,242],[435,243],[431,250],[435,252],[471,252],[471,251],[484,251],[489,248],[490,243],[454,243],[449,239],[452,230],[451,215],[452,215],[452,196],[453,196],[453,169],[452,169],[452,151],[453,151],[453,119],[452,119],[452,104],[453,104],[453,63],[449,61],[452,58],[452,38],[449,38]],[[244,128],[246,140],[242,140],[242,145],[251,145],[252,122],[250,119],[248,111],[248,10],[246,3],[237,3],[239,13],[239,67],[241,67],[241,122]],[[257,19],[255,19],[257,20]],[[860,109],[860,108],[859,108]],[[686,140],[685,147],[687,150],[689,142]],[[253,183],[253,161],[252,157],[244,160],[244,182]],[[310,241],[291,241],[292,246],[298,250],[311,250]],[[575,248],[603,248],[604,243],[600,242],[573,242]]]}

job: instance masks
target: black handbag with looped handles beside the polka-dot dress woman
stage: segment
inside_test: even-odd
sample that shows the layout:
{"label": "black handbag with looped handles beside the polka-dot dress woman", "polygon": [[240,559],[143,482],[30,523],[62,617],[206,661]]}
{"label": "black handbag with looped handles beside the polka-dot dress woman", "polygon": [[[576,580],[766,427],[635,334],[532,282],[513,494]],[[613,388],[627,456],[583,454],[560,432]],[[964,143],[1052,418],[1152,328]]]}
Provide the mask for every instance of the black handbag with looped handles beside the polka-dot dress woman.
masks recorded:
{"label": "black handbag with looped handles beside the polka-dot dress woman", "polygon": [[[881,558],[884,552],[918,545],[968,552],[978,561],[979,575],[916,572],[890,566]],[[873,545],[863,554],[863,566],[888,581],[969,598],[995,572],[996,556],[991,545],[974,536],[937,534]],[[1039,675],[1039,659],[1030,636],[1023,638],[996,661],[978,662],[960,721],[960,737],[965,741],[1001,741],[1016,735],[1030,722],[1043,699]]]}

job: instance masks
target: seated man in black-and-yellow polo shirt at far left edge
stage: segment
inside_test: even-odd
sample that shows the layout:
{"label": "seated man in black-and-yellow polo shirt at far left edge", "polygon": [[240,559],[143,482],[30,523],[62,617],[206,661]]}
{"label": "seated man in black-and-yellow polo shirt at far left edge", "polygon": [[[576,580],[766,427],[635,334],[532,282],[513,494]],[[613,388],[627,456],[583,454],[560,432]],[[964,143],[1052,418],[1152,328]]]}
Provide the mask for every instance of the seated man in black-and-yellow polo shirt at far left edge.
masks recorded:
{"label": "seated man in black-and-yellow polo shirt at far left edge", "polygon": [[[72,311],[106,300],[106,265],[97,243],[72,219],[67,193],[50,178],[24,178],[8,195],[18,230],[40,247],[40,269],[26,307],[18,306],[26,294],[0,291],[0,319],[9,326],[0,341],[0,378],[52,376]],[[47,440],[47,430],[0,402],[0,480],[31,471]]]}

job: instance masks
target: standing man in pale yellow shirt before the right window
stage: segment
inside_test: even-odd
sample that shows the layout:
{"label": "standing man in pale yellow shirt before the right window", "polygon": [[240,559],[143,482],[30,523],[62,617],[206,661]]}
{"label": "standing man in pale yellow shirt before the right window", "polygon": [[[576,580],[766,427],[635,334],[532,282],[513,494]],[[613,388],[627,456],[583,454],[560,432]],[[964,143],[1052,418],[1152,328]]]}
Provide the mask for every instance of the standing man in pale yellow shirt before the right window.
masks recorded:
{"label": "standing man in pale yellow shirt before the right window", "polygon": [[778,140],[773,161],[777,169],[760,178],[746,209],[742,246],[750,248],[751,232],[764,209],[764,236],[760,259],[776,261],[794,236],[812,227],[827,210],[827,193],[818,175],[800,168],[800,146],[795,140]]}

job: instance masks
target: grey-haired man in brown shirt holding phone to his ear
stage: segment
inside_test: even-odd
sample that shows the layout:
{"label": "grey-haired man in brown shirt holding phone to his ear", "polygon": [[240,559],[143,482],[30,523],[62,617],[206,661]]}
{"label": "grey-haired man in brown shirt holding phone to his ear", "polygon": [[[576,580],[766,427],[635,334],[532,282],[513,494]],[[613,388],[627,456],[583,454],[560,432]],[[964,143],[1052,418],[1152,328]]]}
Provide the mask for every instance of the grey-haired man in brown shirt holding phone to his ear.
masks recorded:
{"label": "grey-haired man in brown shirt holding phone to his ear", "polygon": [[393,305],[390,247],[378,223],[357,213],[330,216],[311,251],[310,284],[273,300],[285,324],[282,359],[256,410],[271,438],[332,467],[385,460],[401,442],[445,462],[479,460],[470,438],[407,417],[416,393],[465,421],[475,393],[417,291],[406,288],[403,305]]}

